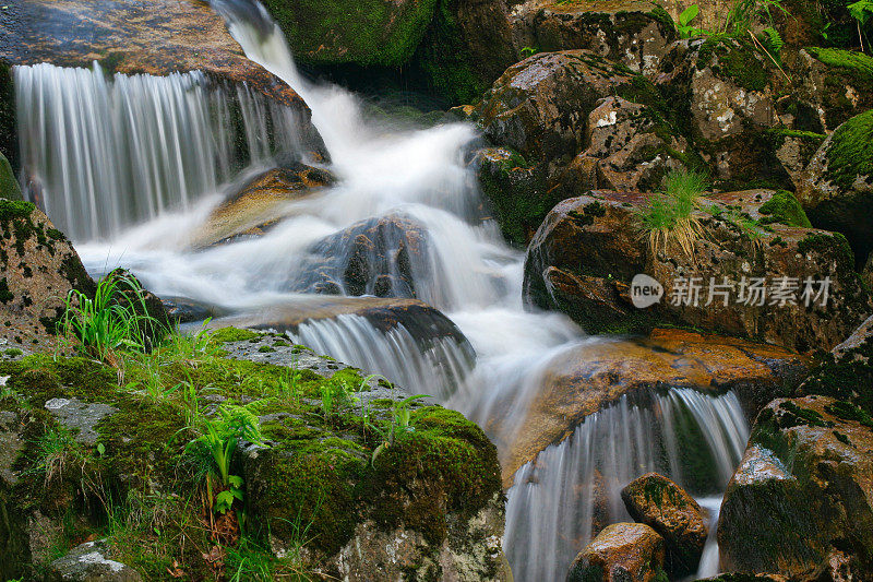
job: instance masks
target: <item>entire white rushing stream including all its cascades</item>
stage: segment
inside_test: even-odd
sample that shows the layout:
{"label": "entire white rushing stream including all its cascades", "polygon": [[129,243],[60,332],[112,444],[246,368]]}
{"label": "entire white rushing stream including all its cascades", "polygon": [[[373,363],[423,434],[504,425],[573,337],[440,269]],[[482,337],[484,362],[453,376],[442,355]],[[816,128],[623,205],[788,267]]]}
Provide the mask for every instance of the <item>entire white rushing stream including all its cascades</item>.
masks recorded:
{"label": "entire white rushing stream including all its cascades", "polygon": [[[434,394],[486,427],[498,414],[506,423],[524,415],[543,370],[585,340],[563,316],[524,310],[524,256],[482,218],[468,164],[474,128],[398,131],[372,122],[355,95],[301,78],[260,5],[213,5],[247,56],[311,107],[337,185],[289,202],[287,217],[260,238],[194,250],[191,231],[235,186],[276,155],[301,159],[295,116],[243,90],[212,86],[199,73],[107,80],[97,66],[36,66],[15,70],[29,194],[77,241],[92,272],[121,264],[160,296],[235,313],[300,301],[289,281],[308,276],[307,265],[332,235],[373,217],[414,221],[427,245],[421,263],[410,268],[415,295],[458,326],[475,363],[456,342],[422,347],[408,328],[385,332],[355,316],[307,322],[294,338],[411,392]],[[242,111],[241,152],[232,145],[240,142],[232,133],[240,129],[229,123],[232,108]],[[266,139],[267,127],[276,143]],[[677,431],[680,417],[697,427],[695,442],[680,441],[689,435]],[[680,461],[683,448],[711,460],[703,479],[711,490],[694,492],[719,495],[746,437],[732,394],[670,390],[641,402],[622,399],[588,417],[516,473],[504,543],[516,580],[563,580],[595,521],[626,519],[618,495],[635,476],[657,470],[692,485]],[[713,548],[707,551],[711,568]]]}

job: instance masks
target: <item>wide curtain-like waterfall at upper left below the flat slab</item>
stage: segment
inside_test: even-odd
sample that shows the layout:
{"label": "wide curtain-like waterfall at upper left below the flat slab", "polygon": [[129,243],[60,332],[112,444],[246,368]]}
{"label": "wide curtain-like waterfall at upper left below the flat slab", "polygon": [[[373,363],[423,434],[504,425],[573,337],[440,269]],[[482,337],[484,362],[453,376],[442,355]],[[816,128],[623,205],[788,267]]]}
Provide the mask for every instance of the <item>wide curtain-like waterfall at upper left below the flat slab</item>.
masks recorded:
{"label": "wide curtain-like waterfall at upper left below the flat slab", "polygon": [[294,111],[196,71],[108,78],[96,62],[43,63],[14,75],[22,183],[74,240],[188,207],[273,153],[299,156]]}

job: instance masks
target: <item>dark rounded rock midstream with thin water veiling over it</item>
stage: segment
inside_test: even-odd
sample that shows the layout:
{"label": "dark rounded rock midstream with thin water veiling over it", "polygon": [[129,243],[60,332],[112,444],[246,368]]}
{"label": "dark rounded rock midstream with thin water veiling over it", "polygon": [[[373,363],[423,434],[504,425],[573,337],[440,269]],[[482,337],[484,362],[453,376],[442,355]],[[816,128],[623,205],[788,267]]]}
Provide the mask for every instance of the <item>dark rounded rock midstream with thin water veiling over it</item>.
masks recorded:
{"label": "dark rounded rock midstream with thin water veiling over it", "polygon": [[399,214],[356,223],[314,244],[309,257],[295,290],[415,298],[429,271],[424,227]]}

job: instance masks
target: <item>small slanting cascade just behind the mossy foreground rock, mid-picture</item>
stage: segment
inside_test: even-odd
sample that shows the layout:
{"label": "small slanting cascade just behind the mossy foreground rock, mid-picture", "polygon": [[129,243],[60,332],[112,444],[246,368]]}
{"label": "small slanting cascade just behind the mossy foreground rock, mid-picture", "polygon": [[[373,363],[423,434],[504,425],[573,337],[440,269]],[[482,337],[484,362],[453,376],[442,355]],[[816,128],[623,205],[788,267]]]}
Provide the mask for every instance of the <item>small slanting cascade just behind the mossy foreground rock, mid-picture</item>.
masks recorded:
{"label": "small slanting cascade just behind the mossy foreground rock, mid-picture", "polygon": [[319,354],[384,375],[411,394],[441,401],[454,393],[475,359],[463,336],[415,333],[402,322],[380,330],[350,313],[302,323],[288,335]]}

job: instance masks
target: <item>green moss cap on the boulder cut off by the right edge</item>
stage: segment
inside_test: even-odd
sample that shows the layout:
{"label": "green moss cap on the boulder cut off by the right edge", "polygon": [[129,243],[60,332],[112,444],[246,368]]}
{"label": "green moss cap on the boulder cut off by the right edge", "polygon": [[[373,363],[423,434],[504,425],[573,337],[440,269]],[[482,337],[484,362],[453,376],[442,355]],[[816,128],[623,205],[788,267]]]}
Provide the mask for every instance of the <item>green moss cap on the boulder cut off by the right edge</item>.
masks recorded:
{"label": "green moss cap on the boulder cut off by the right edge", "polygon": [[873,110],[837,128],[825,155],[827,178],[842,190],[859,177],[873,176]]}

